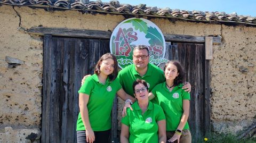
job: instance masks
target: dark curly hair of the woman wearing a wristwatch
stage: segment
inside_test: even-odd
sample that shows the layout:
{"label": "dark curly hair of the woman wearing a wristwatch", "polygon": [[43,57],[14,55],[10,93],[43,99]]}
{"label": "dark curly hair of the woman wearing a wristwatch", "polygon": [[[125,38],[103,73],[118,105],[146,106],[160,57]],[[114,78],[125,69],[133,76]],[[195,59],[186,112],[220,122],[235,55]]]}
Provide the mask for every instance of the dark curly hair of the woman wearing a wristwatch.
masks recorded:
{"label": "dark curly hair of the woman wearing a wristwatch", "polygon": [[175,65],[177,67],[179,75],[178,75],[178,77],[176,77],[174,79],[174,86],[177,86],[177,85],[179,85],[180,83],[182,83],[184,81],[184,79],[185,79],[185,72],[184,72],[180,62],[179,61],[174,61],[174,60],[173,61],[168,61],[167,63],[165,63],[164,72],[165,72],[166,67],[169,64],[173,64],[173,65]]}

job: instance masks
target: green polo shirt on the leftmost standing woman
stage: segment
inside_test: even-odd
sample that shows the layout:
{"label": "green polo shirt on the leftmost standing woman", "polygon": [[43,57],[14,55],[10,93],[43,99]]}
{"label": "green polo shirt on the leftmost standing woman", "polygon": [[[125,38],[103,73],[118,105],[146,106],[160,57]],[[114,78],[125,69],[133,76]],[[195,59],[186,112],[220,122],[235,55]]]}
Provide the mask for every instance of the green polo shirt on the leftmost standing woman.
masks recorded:
{"label": "green polo shirt on the leftmost standing woman", "polygon": [[[111,109],[116,92],[121,89],[119,80],[110,81],[107,78],[105,85],[99,82],[97,74],[86,78],[78,93],[89,95],[87,103],[89,120],[93,131],[111,129]],[[77,131],[85,130],[81,113],[78,114]]]}

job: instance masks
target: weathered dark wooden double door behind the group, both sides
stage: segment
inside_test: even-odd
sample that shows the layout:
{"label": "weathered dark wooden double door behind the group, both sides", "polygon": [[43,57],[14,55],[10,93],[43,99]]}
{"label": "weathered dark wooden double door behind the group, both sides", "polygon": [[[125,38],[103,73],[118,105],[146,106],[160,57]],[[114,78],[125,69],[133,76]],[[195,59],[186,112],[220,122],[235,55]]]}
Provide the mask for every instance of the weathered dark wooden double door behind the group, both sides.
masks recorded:
{"label": "weathered dark wooden double door behind the group, both sides", "polygon": [[[204,44],[166,43],[169,60],[179,60],[192,85],[189,124],[191,132],[210,131],[209,63]],[[76,142],[79,112],[78,89],[86,74],[93,74],[95,63],[109,52],[109,40],[44,37],[44,87],[42,142]],[[206,73],[208,72],[208,73]],[[207,77],[208,76],[208,77]],[[207,90],[206,90],[207,89]],[[111,139],[117,137],[117,102],[112,111]],[[208,126],[209,125],[209,126]]]}

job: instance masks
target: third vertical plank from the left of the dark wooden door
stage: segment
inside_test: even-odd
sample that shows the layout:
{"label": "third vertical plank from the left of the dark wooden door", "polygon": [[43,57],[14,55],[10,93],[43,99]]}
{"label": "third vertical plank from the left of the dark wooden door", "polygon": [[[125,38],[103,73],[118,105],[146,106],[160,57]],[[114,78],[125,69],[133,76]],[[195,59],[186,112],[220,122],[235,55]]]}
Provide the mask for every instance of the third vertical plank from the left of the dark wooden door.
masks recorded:
{"label": "third vertical plank from the left of the dark wooden door", "polygon": [[[55,48],[61,48],[62,57],[62,74],[63,77],[61,79],[61,88],[64,89],[63,93],[60,95],[60,108],[62,111],[61,115],[61,142],[74,142],[74,127],[76,127],[76,111],[78,110],[77,101],[75,97],[77,97],[77,92],[75,92],[75,58],[76,58],[76,43],[78,42],[73,38],[54,38],[57,41],[60,41],[60,45],[57,45]],[[71,132],[72,131],[72,132]]]}

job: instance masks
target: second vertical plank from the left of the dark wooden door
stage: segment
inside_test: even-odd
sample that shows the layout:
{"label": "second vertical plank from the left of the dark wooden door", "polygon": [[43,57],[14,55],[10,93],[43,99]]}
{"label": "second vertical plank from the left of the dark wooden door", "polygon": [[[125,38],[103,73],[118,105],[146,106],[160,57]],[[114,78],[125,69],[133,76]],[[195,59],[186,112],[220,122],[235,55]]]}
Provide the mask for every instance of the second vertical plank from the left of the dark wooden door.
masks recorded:
{"label": "second vertical plank from the left of the dark wooden door", "polygon": [[51,92],[50,95],[50,142],[61,142],[61,40],[52,38]]}

